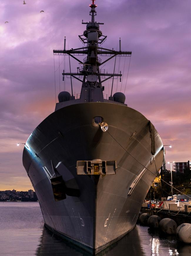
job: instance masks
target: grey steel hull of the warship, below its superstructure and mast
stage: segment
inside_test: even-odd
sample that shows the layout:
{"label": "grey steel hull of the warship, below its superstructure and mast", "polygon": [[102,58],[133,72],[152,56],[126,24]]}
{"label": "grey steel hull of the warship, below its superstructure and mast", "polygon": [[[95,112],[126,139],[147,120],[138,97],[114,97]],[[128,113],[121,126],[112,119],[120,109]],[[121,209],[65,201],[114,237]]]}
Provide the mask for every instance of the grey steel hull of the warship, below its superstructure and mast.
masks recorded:
{"label": "grey steel hull of the warship, below its superstructure and mast", "polygon": [[[109,133],[94,123],[96,116],[108,123]],[[53,112],[33,131],[23,152],[45,225],[91,253],[120,239],[136,224],[157,174],[155,164],[157,170],[162,166],[162,147],[155,130],[152,162],[149,121],[124,105],[81,103]],[[116,160],[116,174],[78,175],[76,162],[93,159]],[[79,197],[54,200],[51,160],[55,166],[61,162],[58,172],[68,187],[80,190]]]}

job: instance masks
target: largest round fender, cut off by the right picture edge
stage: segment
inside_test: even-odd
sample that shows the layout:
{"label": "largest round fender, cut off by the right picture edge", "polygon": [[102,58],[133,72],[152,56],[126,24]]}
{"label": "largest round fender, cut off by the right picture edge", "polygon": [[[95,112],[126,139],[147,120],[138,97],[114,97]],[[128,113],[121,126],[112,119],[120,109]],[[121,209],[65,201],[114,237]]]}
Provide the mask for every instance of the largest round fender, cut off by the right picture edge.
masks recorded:
{"label": "largest round fender, cut off by the right picture edge", "polygon": [[191,243],[191,224],[183,223],[180,226],[178,226],[176,230],[176,237],[181,242],[190,244]]}

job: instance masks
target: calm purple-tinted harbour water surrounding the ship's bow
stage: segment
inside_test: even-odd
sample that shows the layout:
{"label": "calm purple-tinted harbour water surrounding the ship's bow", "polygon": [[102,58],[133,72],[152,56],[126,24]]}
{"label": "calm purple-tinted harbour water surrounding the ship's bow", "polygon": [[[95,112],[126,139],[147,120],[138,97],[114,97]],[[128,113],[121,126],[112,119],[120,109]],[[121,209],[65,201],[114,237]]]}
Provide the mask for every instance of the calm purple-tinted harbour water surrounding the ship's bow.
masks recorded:
{"label": "calm purple-tinted harbour water surrounding the ship's bow", "polygon": [[[90,256],[44,228],[38,202],[0,202],[0,255]],[[191,245],[161,236],[146,226],[135,229],[97,256],[187,256]]]}

